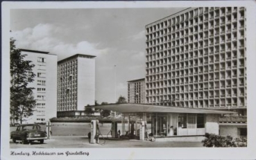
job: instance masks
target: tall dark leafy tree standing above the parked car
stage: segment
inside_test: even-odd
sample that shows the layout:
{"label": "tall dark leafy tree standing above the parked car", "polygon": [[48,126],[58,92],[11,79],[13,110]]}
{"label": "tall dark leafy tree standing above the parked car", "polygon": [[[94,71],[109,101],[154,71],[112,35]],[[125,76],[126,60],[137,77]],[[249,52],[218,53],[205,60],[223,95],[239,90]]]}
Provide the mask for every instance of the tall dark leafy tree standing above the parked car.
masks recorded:
{"label": "tall dark leafy tree standing above the parked car", "polygon": [[33,87],[28,84],[34,81],[34,64],[24,60],[26,55],[15,46],[15,39],[10,38],[10,115],[12,119],[22,119],[33,115],[36,100],[33,97]]}

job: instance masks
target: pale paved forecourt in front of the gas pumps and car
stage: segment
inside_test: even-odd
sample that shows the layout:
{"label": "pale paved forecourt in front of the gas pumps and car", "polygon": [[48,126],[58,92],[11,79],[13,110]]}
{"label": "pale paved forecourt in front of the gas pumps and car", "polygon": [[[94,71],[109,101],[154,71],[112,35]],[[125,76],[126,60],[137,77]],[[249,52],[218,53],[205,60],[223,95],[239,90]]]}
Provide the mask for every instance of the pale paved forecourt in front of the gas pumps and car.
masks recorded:
{"label": "pale paved forecourt in front of the gas pumps and car", "polygon": [[[104,143],[105,142],[105,143]],[[10,139],[10,148],[199,148],[201,142],[174,142],[174,141],[139,141],[129,139],[100,139],[101,144],[91,144],[87,136],[52,136],[43,144],[34,141],[31,144],[13,143]],[[104,144],[102,144],[104,143]]]}

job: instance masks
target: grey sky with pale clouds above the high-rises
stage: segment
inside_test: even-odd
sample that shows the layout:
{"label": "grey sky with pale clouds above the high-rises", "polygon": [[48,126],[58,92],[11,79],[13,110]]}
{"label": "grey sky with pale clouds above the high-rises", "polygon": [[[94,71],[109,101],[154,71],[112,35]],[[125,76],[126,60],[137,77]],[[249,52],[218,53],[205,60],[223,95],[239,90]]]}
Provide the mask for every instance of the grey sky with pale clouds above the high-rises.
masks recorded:
{"label": "grey sky with pale clouds above the high-rises", "polygon": [[12,9],[10,37],[17,48],[48,51],[58,60],[96,55],[96,100],[114,103],[127,99],[128,80],[145,78],[145,26],[184,9]]}

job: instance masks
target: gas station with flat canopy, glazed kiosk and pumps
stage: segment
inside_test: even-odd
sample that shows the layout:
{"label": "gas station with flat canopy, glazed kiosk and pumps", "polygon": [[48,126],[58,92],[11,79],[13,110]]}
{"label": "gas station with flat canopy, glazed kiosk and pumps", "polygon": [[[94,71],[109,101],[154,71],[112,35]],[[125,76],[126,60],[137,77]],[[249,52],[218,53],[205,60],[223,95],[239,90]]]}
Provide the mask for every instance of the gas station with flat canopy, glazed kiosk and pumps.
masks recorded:
{"label": "gas station with flat canopy, glazed kiosk and pumps", "polygon": [[[204,137],[205,133],[219,134],[221,114],[236,113],[129,103],[100,105],[95,106],[95,109],[106,109],[122,114],[121,128],[117,128],[116,121],[112,122],[113,138],[117,138],[120,132],[129,139],[142,141],[146,140],[148,135],[153,136],[157,141],[196,141],[198,137]],[[91,126],[91,141],[94,142],[92,139],[99,134],[99,121],[93,120]]]}

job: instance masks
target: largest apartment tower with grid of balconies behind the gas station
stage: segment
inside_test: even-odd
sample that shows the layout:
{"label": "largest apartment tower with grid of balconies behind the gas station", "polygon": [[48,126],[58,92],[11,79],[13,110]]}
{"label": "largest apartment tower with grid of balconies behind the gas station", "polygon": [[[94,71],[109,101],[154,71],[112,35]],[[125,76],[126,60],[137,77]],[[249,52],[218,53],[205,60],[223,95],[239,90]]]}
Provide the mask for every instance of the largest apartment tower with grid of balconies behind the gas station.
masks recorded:
{"label": "largest apartment tower with grid of balconies behind the gas station", "polygon": [[246,114],[246,8],[187,8],[146,25],[146,103]]}

